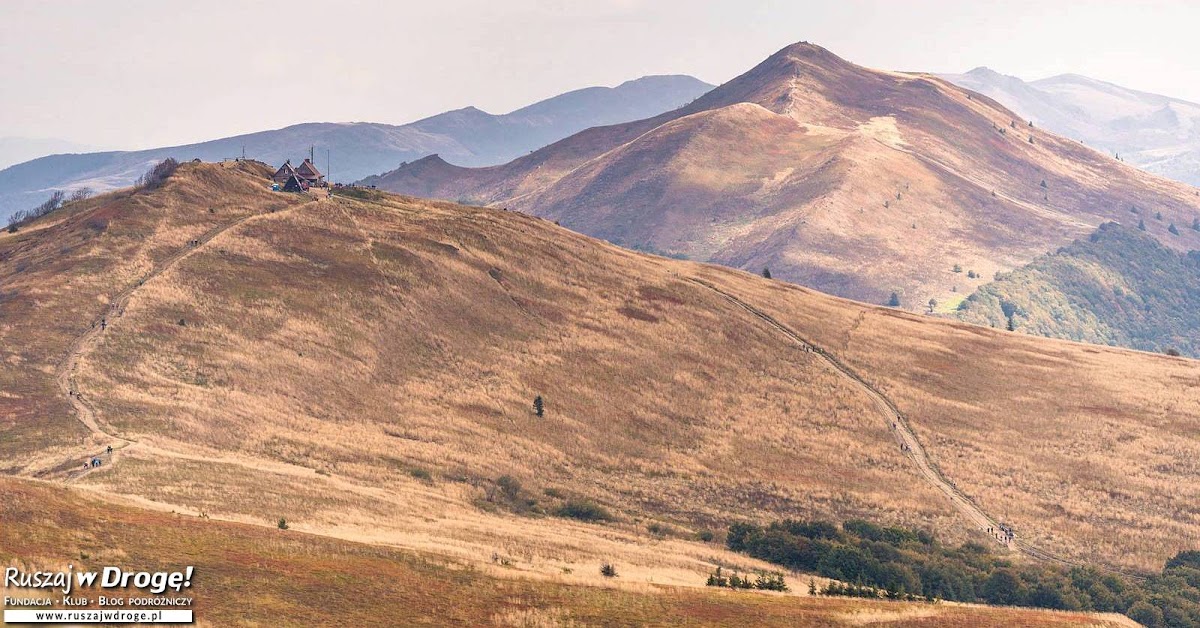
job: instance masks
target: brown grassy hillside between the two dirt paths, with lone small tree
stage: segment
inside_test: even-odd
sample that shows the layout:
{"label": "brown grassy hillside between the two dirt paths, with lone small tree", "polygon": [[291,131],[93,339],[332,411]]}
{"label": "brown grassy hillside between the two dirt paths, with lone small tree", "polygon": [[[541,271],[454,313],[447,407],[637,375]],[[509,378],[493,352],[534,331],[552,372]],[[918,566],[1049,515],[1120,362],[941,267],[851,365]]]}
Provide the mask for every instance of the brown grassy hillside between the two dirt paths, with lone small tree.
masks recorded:
{"label": "brown grassy hillside between the two dirt paths, with lone small tree", "polygon": [[522,214],[337,198],[146,283],[80,384],[130,438],[367,484],[512,474],[689,526],[954,528],[869,400],[722,303]]}

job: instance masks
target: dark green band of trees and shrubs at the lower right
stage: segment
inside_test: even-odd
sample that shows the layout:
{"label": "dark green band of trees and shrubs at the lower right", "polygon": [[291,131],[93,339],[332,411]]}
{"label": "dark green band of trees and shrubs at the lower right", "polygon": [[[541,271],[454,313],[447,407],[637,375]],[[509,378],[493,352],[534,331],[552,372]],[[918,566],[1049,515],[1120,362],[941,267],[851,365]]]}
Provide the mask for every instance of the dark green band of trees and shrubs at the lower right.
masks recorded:
{"label": "dark green band of trees and shrubs at the lower right", "polygon": [[1134,581],[1094,568],[1018,564],[978,543],[863,520],[733,524],[726,545],[842,582],[821,593],[1121,612],[1148,627],[1200,627],[1200,551]]}

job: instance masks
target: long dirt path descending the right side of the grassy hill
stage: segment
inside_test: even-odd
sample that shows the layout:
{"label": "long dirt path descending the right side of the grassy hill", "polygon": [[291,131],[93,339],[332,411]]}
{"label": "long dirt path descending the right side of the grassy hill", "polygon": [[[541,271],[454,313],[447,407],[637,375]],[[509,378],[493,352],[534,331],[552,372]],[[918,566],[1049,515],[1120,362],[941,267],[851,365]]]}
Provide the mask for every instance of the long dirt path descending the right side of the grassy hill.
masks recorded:
{"label": "long dirt path descending the right side of the grassy hill", "polygon": [[[960,491],[959,488],[954,484],[954,482],[947,478],[941,472],[941,469],[938,469],[934,465],[934,462],[930,461],[929,454],[925,451],[925,448],[920,444],[920,441],[917,438],[916,432],[913,432],[912,426],[908,425],[908,420],[905,418],[904,413],[900,412],[900,408],[898,408],[896,405],[893,403],[892,400],[888,399],[883,393],[878,391],[874,385],[863,379],[858,373],[856,373],[850,366],[844,364],[841,360],[829,354],[821,347],[814,345],[812,342],[804,340],[803,337],[800,337],[799,334],[793,331],[787,325],[780,323],[772,316],[767,315],[762,310],[758,310],[757,307],[743,301],[742,299],[734,297],[733,294],[730,294],[728,292],[725,292],[724,289],[718,288],[716,286],[707,281],[696,277],[688,277],[688,280],[720,294],[725,300],[732,303],[733,305],[737,305],[738,307],[745,310],[746,312],[750,312],[756,318],[767,323],[768,325],[774,328],[776,331],[786,336],[792,342],[799,345],[805,352],[814,353],[817,357],[820,357],[828,366],[833,367],[845,378],[853,382],[853,384],[857,388],[859,388],[871,399],[871,401],[875,403],[875,407],[880,411],[880,414],[882,414],[883,418],[888,421],[888,429],[895,437],[896,443],[900,445],[901,450],[907,455],[907,457],[913,462],[913,465],[917,466],[917,471],[920,472],[920,476],[925,479],[925,482],[932,485],[935,489],[937,489],[938,492],[944,495],[946,498],[950,501],[954,508],[960,514],[962,514],[962,516],[966,518],[967,521],[970,521],[980,532],[984,532],[989,537],[991,537],[991,539],[995,540],[997,544],[1003,545],[1008,549],[1016,550],[1031,558],[1036,558],[1039,561],[1054,562],[1066,567],[1096,567],[1096,566],[1084,564],[1081,562],[1069,561],[1067,558],[1045,551],[1040,548],[1036,548],[1030,543],[1018,538],[1015,532],[1010,539],[1006,540],[1003,536],[998,533],[1000,521],[989,515],[988,513],[985,513],[982,508],[979,508],[974,503],[974,501],[972,501],[962,491]],[[1100,569],[1117,573],[1124,575],[1126,578],[1133,578],[1138,580],[1142,579],[1141,576],[1127,574],[1124,572],[1118,572],[1115,569],[1106,569],[1103,567],[1100,567]]]}

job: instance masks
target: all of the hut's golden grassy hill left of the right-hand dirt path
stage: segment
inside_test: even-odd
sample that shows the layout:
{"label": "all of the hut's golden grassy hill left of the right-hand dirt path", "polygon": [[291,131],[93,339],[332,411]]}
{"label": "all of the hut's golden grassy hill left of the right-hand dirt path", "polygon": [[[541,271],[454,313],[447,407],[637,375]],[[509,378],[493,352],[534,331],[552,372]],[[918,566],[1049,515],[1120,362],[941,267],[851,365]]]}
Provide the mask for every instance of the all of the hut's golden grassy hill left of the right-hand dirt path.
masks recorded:
{"label": "all of the hut's golden grassy hill left of the right-hand dirt path", "polygon": [[[0,234],[7,472],[540,573],[619,556],[692,585],[718,550],[665,557],[647,526],[811,512],[972,534],[870,399],[691,267],[517,213],[265,177],[185,163]],[[115,463],[79,477],[108,444]]]}

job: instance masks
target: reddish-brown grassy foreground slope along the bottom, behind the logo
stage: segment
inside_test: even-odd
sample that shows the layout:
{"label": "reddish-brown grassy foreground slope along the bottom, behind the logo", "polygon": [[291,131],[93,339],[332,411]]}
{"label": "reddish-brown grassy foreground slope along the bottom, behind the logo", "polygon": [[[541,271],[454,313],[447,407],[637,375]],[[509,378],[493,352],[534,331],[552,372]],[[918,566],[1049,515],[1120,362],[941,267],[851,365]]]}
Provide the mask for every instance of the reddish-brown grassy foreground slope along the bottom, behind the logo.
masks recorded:
{"label": "reddish-brown grassy foreground slope along the bottom, behind the logo", "polygon": [[[571,585],[478,570],[428,554],[101,503],[0,478],[0,563],[76,570],[194,566],[199,626],[1124,626],[1116,616]],[[5,594],[30,597],[28,591]]]}

